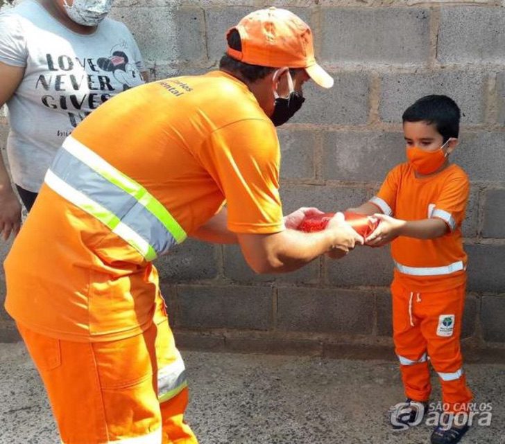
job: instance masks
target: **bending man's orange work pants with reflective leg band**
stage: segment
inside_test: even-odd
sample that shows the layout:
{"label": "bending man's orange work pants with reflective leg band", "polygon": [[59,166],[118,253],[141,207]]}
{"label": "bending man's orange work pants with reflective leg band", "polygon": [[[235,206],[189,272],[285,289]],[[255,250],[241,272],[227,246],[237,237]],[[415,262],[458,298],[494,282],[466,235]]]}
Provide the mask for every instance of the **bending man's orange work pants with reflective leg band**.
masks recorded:
{"label": "bending man's orange work pants with reflective leg band", "polygon": [[63,341],[18,328],[62,443],[197,444],[182,418],[185,368],[168,321],[110,342]]}

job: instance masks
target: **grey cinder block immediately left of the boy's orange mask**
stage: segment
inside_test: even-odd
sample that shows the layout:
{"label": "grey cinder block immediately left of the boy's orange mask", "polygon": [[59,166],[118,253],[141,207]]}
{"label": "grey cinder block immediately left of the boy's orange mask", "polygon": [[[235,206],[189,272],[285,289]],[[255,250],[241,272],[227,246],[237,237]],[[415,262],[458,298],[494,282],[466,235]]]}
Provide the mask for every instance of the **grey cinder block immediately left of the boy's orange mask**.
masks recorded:
{"label": "grey cinder block immediately left of the boy's orange mask", "polygon": [[325,133],[324,179],[382,182],[393,166],[404,161],[405,142],[401,133]]}

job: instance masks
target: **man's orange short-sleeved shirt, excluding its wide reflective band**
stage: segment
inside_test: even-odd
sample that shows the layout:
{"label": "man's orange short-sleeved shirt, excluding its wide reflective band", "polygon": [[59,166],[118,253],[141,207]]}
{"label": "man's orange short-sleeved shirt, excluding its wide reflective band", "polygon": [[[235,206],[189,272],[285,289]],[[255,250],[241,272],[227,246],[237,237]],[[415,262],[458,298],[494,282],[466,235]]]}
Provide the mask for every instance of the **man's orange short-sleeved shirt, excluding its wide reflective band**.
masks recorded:
{"label": "man's orange short-sleeved shirt, excluding its wide reflective band", "polygon": [[[191,236],[225,202],[237,233],[284,229],[275,127],[221,71],[130,89],[72,136],[144,186]],[[44,184],[6,259],[6,309],[44,335],[112,340],[162,313],[155,267]]]}

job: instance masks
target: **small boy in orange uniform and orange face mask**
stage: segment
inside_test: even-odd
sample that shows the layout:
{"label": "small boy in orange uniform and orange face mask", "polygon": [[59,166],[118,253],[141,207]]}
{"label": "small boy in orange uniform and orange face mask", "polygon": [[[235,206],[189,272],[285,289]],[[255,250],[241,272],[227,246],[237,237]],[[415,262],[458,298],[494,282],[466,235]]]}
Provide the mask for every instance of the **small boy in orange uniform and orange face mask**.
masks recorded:
{"label": "small boy in orange uniform and orange face mask", "polygon": [[[469,182],[448,160],[458,144],[459,120],[459,107],[446,96],[426,96],[406,109],[409,161],[389,172],[377,196],[353,208],[380,220],[368,245],[392,241],[393,339],[406,404],[412,407],[411,416],[392,418],[397,428],[415,423],[416,408],[425,410],[431,392],[428,359],[440,377],[446,411],[464,412],[472,400],[460,350],[467,262],[461,222]],[[456,443],[467,429],[437,427],[431,442]]]}

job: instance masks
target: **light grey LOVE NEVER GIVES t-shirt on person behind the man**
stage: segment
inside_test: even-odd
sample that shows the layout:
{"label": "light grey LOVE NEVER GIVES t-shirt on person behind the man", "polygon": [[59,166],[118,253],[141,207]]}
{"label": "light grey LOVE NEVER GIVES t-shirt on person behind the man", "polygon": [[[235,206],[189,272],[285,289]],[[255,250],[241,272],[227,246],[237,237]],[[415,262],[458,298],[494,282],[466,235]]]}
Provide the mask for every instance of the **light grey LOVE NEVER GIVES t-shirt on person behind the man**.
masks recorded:
{"label": "light grey LOVE NEVER GIVES t-shirt on person behind the man", "polygon": [[25,67],[7,102],[7,154],[15,184],[34,192],[74,127],[144,82],[142,56],[124,24],[105,18],[93,34],[80,35],[33,0],[0,13],[0,62]]}

